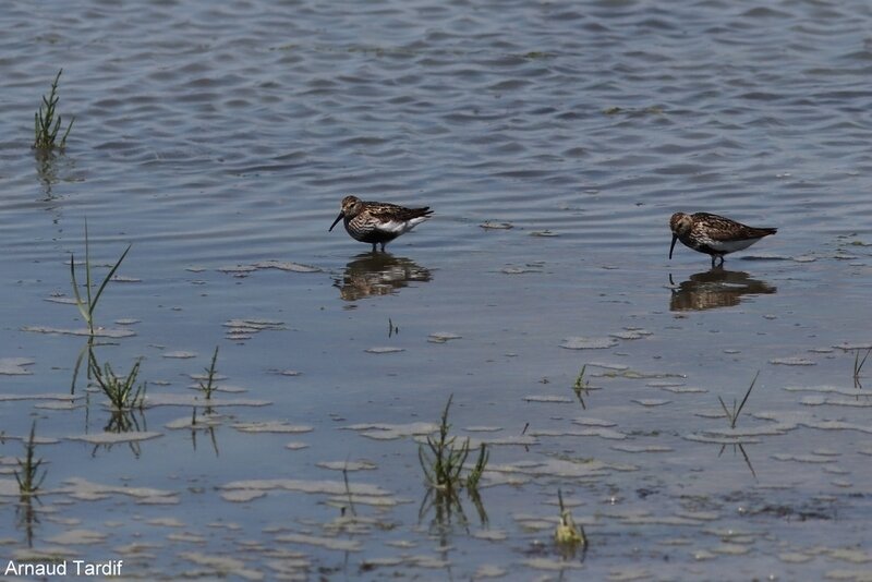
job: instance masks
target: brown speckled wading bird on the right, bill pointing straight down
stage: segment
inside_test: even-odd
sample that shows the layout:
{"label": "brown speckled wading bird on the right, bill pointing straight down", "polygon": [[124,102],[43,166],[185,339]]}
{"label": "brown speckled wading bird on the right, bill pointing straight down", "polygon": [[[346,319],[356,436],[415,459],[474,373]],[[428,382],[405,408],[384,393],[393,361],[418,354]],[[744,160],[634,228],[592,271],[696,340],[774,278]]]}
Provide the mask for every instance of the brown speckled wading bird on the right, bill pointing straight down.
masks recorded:
{"label": "brown speckled wading bird on the right, bill pointing straight down", "polygon": [[712,267],[715,259],[724,264],[724,255],[748,248],[763,237],[775,234],[778,229],[754,228],[736,222],[723,216],[708,213],[687,215],[676,213],[669,219],[673,231],[673,244],[669,246],[669,258],[676,241],[681,241],[685,246],[712,256]]}

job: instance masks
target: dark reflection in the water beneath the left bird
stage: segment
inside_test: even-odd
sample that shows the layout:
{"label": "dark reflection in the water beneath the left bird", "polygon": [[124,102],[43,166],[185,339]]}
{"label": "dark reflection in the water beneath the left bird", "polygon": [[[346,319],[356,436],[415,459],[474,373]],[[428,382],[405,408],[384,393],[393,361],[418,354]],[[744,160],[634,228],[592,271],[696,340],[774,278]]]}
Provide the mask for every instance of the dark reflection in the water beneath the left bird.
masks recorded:
{"label": "dark reflection in the water beneath the left bird", "polygon": [[390,253],[364,253],[346,265],[341,278],[334,287],[344,301],[356,301],[371,295],[396,293],[412,281],[429,281],[429,269],[420,267],[413,260],[393,256]]}

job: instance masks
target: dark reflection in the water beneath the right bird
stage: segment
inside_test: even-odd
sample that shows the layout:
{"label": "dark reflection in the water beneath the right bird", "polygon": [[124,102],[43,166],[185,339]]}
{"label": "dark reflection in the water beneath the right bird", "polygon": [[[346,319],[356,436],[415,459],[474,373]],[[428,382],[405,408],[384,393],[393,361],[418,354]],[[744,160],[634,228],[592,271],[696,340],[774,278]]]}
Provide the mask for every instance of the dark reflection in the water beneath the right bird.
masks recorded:
{"label": "dark reflection in the water beneath the right bird", "polygon": [[[669,282],[675,284],[673,276]],[[669,311],[702,311],[738,305],[742,295],[776,293],[778,288],[759,279],[752,279],[742,271],[715,267],[704,272],[691,275],[690,279],[673,288]]]}

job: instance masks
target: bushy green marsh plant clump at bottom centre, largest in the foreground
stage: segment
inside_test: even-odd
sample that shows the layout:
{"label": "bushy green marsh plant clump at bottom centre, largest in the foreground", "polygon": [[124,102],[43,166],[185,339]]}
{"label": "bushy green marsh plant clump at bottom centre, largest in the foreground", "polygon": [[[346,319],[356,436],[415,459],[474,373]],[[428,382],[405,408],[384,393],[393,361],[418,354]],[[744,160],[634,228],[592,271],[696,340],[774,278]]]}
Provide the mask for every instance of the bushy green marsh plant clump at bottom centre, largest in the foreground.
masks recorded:
{"label": "bushy green marsh plant clump at bottom centre, largest in the foreground", "polygon": [[432,435],[427,435],[426,449],[428,450],[425,450],[424,445],[419,446],[417,459],[431,487],[448,492],[457,492],[463,487],[474,490],[487,465],[489,452],[487,446],[482,444],[475,464],[468,470],[465,476],[461,474],[470,454],[470,439],[467,437],[464,441],[458,442],[456,436],[449,435],[451,424],[448,422],[448,410],[451,408],[453,398],[453,395],[448,397],[448,402],[443,410],[438,437],[434,438]]}

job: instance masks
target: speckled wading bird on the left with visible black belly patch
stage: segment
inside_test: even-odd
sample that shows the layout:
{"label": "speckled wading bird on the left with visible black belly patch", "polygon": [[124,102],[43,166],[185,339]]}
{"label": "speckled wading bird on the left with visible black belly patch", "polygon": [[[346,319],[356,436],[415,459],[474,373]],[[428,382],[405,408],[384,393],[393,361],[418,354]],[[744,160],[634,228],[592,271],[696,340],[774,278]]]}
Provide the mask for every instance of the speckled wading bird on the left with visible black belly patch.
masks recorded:
{"label": "speckled wading bird on the left with visible black belly patch", "polygon": [[396,204],[365,202],[356,196],[346,196],[342,198],[339,216],[327,230],[334,230],[337,222],[344,219],[346,230],[351,238],[371,243],[373,253],[375,253],[376,244],[380,244],[382,251],[384,251],[385,244],[400,234],[409,232],[416,225],[429,218],[432,214],[433,210],[429,209],[429,206],[405,208]]}

